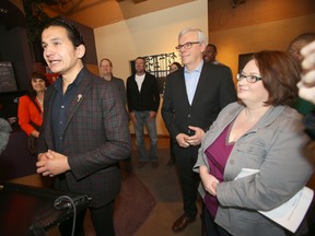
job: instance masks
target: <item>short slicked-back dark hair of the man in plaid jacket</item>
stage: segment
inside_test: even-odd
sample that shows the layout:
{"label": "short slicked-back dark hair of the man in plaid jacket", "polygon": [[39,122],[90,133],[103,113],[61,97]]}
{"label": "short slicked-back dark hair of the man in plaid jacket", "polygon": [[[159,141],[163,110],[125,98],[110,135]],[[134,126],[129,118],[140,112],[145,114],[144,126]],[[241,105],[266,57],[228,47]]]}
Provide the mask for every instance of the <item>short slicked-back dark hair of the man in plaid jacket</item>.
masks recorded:
{"label": "short slicked-back dark hair of the man in plaid jacket", "polygon": [[44,30],[46,30],[50,26],[63,27],[67,31],[68,37],[74,47],[79,47],[80,45],[84,45],[83,37],[81,36],[80,32],[78,31],[78,28],[74,25],[72,25],[66,21],[52,20],[47,25],[45,25]]}

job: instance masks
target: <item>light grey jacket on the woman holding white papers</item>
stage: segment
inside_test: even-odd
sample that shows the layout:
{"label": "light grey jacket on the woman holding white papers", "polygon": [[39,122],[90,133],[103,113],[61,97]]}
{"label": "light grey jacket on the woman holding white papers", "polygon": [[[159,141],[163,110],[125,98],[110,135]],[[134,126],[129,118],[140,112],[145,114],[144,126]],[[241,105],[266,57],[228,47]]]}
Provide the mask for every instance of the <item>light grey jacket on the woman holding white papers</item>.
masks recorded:
{"label": "light grey jacket on the woman holding white papers", "polygon": [[[202,139],[194,167],[208,165],[205,151],[222,133],[244,106],[226,106]],[[288,201],[307,181],[312,167],[302,154],[308,138],[301,115],[288,106],[271,107],[259,122],[240,138],[224,169],[224,181],[218,185],[220,202],[215,222],[240,236],[284,236],[283,229],[257,211],[269,211]],[[237,180],[242,168],[259,169],[256,175]],[[205,197],[202,185],[199,186]]]}

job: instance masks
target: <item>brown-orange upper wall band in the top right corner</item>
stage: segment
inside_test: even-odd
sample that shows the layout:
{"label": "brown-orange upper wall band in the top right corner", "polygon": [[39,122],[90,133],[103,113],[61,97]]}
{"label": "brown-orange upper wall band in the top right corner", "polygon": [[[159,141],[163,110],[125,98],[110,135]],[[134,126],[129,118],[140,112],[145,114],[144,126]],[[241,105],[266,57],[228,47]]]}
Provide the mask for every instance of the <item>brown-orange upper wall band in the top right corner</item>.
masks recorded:
{"label": "brown-orange upper wall band in the top right corner", "polygon": [[246,0],[235,9],[230,0],[208,0],[209,32],[224,31],[315,13],[314,0]]}

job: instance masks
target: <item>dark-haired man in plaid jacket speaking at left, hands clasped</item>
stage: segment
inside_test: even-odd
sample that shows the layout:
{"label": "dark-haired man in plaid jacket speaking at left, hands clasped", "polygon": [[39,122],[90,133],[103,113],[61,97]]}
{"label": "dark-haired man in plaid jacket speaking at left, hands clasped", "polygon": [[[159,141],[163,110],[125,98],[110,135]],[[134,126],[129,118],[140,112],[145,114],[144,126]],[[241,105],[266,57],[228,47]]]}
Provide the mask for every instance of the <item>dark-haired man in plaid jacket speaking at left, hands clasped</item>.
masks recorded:
{"label": "dark-haired man in plaid jacket speaking at left, hands clasped", "polygon": [[[42,33],[44,58],[61,74],[45,93],[37,173],[56,177],[55,188],[92,197],[90,212],[97,235],[115,235],[115,197],[120,188],[118,161],[131,153],[128,117],[119,92],[83,66],[82,36],[63,21]],[[85,212],[77,216],[74,235],[84,235]],[[72,220],[59,226],[71,235]]]}

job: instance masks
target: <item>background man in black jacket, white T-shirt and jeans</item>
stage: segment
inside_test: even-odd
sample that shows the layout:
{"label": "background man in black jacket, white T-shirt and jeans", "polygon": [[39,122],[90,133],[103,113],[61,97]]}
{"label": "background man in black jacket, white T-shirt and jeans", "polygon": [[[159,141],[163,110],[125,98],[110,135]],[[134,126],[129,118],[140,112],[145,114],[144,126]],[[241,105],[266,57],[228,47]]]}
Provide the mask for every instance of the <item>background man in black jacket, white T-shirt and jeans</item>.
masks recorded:
{"label": "background man in black jacket, white T-shirt and jeans", "polygon": [[[136,73],[127,79],[127,103],[136,132],[136,144],[140,155],[138,167],[148,162],[158,167],[156,113],[160,105],[160,93],[156,78],[145,72],[145,59],[138,57],[135,61]],[[144,126],[150,137],[150,152],[147,155],[144,145]]]}

